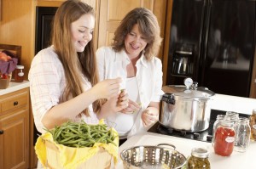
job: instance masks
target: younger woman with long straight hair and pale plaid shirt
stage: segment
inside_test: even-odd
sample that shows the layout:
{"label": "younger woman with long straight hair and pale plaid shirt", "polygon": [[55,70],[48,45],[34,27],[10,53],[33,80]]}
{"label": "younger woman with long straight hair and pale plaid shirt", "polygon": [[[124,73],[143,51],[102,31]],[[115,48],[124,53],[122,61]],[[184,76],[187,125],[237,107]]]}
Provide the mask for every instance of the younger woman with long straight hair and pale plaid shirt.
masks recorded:
{"label": "younger woman with long straight hair and pale plaid shirt", "polygon": [[119,78],[98,82],[94,26],[93,8],[79,0],[56,11],[52,45],[34,57],[28,75],[38,132],[65,121],[98,123],[127,106]]}

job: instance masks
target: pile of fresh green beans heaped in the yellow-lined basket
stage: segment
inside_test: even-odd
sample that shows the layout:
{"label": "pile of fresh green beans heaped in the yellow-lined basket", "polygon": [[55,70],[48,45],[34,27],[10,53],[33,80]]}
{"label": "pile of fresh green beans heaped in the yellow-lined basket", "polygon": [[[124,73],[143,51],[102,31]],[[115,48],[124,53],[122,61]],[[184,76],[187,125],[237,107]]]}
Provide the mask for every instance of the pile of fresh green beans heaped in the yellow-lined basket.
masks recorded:
{"label": "pile of fresh green beans heaped in the yellow-lined basket", "polygon": [[106,124],[88,125],[84,121],[67,121],[47,131],[57,144],[78,148],[92,147],[95,143],[114,144],[113,140],[118,136],[112,129],[108,130]]}

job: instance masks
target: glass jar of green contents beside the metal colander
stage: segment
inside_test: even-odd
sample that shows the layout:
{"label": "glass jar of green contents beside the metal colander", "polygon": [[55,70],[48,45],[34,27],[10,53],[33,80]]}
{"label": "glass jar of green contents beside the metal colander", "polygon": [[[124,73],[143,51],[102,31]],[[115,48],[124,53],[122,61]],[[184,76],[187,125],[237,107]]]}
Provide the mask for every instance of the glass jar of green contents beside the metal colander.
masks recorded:
{"label": "glass jar of green contents beside the metal colander", "polygon": [[194,148],[191,151],[187,168],[188,169],[210,169],[210,161],[208,160],[209,152],[207,149]]}

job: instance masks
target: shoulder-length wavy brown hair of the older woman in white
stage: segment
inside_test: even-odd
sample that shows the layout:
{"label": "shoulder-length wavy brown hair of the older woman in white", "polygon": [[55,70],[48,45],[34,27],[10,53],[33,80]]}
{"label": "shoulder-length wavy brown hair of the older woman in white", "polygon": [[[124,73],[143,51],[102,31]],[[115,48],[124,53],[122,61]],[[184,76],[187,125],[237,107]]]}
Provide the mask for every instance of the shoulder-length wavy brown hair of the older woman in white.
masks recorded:
{"label": "shoulder-length wavy brown hair of the older woman in white", "polygon": [[144,48],[144,55],[146,59],[150,60],[158,54],[162,38],[160,37],[160,26],[157,18],[147,8],[134,8],[125,15],[125,18],[114,32],[113,49],[119,52],[125,48],[125,37],[136,24],[146,42],[148,42],[146,48]]}

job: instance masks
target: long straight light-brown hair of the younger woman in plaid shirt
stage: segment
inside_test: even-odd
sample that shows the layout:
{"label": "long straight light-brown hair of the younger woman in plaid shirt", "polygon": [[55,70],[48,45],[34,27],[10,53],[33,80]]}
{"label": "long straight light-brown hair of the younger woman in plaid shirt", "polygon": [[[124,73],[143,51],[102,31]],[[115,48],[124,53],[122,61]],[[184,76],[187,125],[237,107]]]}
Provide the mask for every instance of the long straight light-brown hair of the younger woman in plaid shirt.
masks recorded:
{"label": "long straight light-brown hair of the younger woman in plaid shirt", "polygon": [[[81,77],[81,73],[87,77],[92,86],[99,81],[93,38],[84,48],[84,52],[81,53],[76,52],[72,42],[71,25],[84,14],[94,16],[93,8],[79,0],[67,0],[57,9],[53,22],[52,44],[55,53],[61,60],[66,76],[67,86],[62,95],[63,101],[72,99],[84,92],[82,78],[78,78]],[[94,112],[100,110],[102,101],[96,100],[93,103]],[[88,109],[81,113],[89,116]]]}

